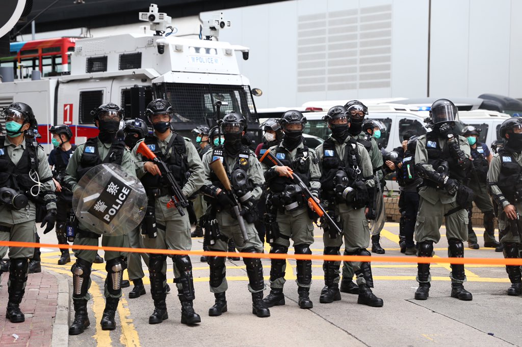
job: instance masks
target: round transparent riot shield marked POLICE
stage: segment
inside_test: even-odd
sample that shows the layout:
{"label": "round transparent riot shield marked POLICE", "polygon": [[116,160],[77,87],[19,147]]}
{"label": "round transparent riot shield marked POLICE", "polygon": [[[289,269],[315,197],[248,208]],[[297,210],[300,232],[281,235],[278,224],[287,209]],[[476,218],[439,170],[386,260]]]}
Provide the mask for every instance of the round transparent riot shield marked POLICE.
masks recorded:
{"label": "round transparent riot shield marked POLICE", "polygon": [[147,194],[143,184],[115,164],[90,169],[78,182],[73,209],[82,228],[118,236],[136,228],[145,216]]}

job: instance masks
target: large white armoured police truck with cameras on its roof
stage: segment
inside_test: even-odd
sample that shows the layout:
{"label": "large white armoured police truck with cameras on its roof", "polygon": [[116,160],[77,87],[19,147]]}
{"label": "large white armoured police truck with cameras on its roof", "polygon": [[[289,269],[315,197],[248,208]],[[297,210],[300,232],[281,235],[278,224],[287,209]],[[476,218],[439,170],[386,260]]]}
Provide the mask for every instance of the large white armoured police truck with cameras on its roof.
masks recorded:
{"label": "large white armoured police truck with cameras on its roof", "polygon": [[98,129],[90,111],[109,102],[120,105],[127,119],[146,120],[147,104],[165,98],[174,109],[176,131],[185,136],[232,110],[246,117],[249,131],[258,132],[250,82],[241,75],[236,60],[236,54],[248,59],[248,47],[211,40],[230,26],[222,14],[203,21],[199,40],[170,34],[171,18],[159,13],[156,5],[140,13],[139,19],[150,23],[150,31],[76,40],[70,72],[45,79],[36,74],[36,80],[4,80],[0,107],[29,104],[39,123],[39,142],[47,151],[52,125],[69,125],[72,143],[95,137]]}

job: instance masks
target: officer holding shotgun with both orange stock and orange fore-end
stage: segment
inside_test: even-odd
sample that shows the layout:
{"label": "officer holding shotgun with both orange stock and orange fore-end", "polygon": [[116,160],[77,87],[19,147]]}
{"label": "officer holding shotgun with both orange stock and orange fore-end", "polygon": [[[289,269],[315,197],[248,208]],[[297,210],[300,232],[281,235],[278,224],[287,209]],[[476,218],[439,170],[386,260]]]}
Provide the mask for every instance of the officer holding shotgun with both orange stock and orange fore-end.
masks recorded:
{"label": "officer holding shotgun with both orange stock and orange fore-end", "polygon": [[[312,218],[315,219],[315,216],[307,206],[301,189],[291,178],[293,175],[298,175],[318,199],[321,188],[318,159],[315,152],[303,143],[302,135],[306,118],[300,111],[287,111],[279,123],[283,129],[283,139],[279,145],[270,147],[270,152],[279,158],[284,166],[262,164],[269,190],[268,213],[276,215],[276,224],[267,225],[271,229],[270,253],[288,253],[290,239],[292,239],[295,254],[312,254],[310,250],[310,245],[314,242]],[[271,259],[270,294],[263,299],[268,307],[284,305],[286,263],[286,259]],[[309,297],[312,261],[296,261],[296,271],[299,307],[312,308],[313,303]]]}

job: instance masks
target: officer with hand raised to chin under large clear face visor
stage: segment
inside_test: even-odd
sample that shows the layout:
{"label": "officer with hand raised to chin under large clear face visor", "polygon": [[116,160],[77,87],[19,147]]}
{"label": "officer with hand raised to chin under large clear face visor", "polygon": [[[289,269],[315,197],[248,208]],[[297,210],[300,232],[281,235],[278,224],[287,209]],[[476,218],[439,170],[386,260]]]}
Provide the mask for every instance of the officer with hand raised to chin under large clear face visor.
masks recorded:
{"label": "officer with hand raised to chin under large clear face visor", "polygon": [[[464,257],[464,243],[468,239],[466,206],[472,191],[464,184],[472,165],[469,143],[458,135],[458,111],[447,99],[435,101],[430,110],[429,127],[433,130],[417,140],[415,169],[423,178],[419,190],[419,212],[415,225],[415,239],[420,257],[433,256],[433,243],[441,239],[440,227],[446,220],[448,256]],[[430,292],[430,264],[418,264],[416,300],[428,299]],[[464,289],[464,265],[452,264],[452,298],[473,299]]]}

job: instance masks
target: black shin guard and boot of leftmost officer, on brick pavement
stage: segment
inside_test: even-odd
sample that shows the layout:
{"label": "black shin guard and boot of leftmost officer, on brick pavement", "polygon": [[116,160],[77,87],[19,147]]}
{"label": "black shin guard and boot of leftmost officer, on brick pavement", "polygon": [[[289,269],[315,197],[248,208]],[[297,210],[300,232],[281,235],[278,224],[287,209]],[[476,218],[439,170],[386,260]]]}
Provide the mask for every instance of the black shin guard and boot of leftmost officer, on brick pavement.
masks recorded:
{"label": "black shin guard and boot of leftmost officer, on brick pavement", "polygon": [[26,320],[20,311],[20,303],[25,293],[24,287],[27,281],[27,267],[27,258],[11,259],[8,282],[9,301],[7,302],[5,313],[5,317],[8,318],[11,323],[22,323],[22,321]]}

